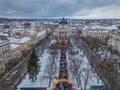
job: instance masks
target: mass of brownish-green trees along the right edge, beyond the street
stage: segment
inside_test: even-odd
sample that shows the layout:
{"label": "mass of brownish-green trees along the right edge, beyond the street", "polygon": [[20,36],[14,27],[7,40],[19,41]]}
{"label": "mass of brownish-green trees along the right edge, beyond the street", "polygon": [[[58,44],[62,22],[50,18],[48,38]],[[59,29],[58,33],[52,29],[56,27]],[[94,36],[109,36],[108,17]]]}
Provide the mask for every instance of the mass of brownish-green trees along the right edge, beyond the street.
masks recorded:
{"label": "mass of brownish-green trees along the right edge, beyond the street", "polygon": [[[90,63],[91,66],[94,66],[94,69],[97,70],[101,78],[104,78],[109,85],[111,90],[118,90],[115,89],[119,87],[119,79],[120,79],[120,64],[119,58],[113,55],[110,52],[108,46],[97,39],[89,39],[89,37],[82,38],[84,43],[91,52]],[[85,45],[84,45],[85,46]],[[85,51],[86,52],[86,51]],[[101,55],[99,52],[102,52]],[[113,83],[114,82],[114,83]],[[105,83],[106,84],[106,83]]]}

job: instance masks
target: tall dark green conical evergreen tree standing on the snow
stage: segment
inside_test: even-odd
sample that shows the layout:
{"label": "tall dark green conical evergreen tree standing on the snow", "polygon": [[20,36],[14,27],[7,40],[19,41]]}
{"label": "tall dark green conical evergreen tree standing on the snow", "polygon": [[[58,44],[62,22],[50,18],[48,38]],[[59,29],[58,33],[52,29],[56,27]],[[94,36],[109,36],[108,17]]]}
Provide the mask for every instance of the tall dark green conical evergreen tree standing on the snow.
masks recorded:
{"label": "tall dark green conical evergreen tree standing on the snow", "polygon": [[28,60],[28,67],[27,72],[29,74],[29,79],[35,81],[37,79],[37,75],[39,73],[39,64],[38,64],[38,57],[35,52],[35,48],[33,49],[30,59]]}

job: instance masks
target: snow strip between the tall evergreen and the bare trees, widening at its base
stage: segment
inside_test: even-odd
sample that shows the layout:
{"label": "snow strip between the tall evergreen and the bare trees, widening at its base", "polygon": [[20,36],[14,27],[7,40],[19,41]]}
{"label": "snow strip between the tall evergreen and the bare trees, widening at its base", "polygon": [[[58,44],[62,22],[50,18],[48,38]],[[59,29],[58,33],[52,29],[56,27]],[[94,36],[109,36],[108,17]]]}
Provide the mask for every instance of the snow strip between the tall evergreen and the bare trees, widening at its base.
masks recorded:
{"label": "snow strip between the tall evergreen and the bare trees, widening at its base", "polygon": [[18,90],[20,87],[47,87],[46,83],[41,83],[42,74],[44,72],[46,63],[49,59],[49,53],[47,50],[44,51],[44,53],[39,57],[39,62],[41,63],[40,73],[37,76],[37,80],[35,82],[31,82],[29,80],[29,75],[27,74],[25,78],[22,80],[22,82],[18,85]]}

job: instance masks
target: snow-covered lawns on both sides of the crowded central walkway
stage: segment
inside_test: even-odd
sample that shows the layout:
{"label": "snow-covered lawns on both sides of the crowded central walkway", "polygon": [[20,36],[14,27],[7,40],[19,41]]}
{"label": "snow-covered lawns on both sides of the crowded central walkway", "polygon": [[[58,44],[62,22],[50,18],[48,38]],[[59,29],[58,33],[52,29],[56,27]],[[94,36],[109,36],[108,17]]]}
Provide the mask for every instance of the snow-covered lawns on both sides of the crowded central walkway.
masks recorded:
{"label": "snow-covered lawns on both sides of the crowded central walkway", "polygon": [[[51,41],[51,43],[53,43],[53,41]],[[78,54],[74,55],[75,58],[79,58],[81,60],[83,60],[82,64],[81,64],[81,67],[82,68],[90,68],[90,65],[89,65],[89,62],[86,58],[86,56],[84,55],[83,51],[78,49],[77,47],[75,47],[75,50],[78,50]],[[67,62],[68,62],[68,70],[69,70],[69,64],[70,64],[70,55],[68,53],[67,54]],[[55,56],[55,62],[56,65],[57,65],[57,72],[56,72],[56,76],[59,75],[59,57],[60,57],[60,52],[57,56]],[[72,58],[72,57],[71,57]],[[46,67],[47,67],[47,64],[49,62],[49,60],[51,59],[51,54],[49,54],[48,52],[48,49],[44,51],[44,53],[39,57],[39,63],[41,65],[41,68],[40,68],[40,72],[37,76],[37,80],[35,82],[31,82],[29,80],[29,75],[27,74],[25,76],[25,78],[22,80],[22,82],[18,85],[18,90],[20,87],[48,87],[48,80],[43,80],[43,76],[45,74],[45,70],[46,70]],[[52,60],[52,59],[51,59]],[[92,71],[91,71],[92,72]],[[83,74],[84,75],[84,74]],[[103,85],[102,81],[99,80],[98,82],[98,79],[99,77],[95,74],[95,73],[91,73],[91,78],[89,79],[89,82],[88,82],[88,85],[87,85],[87,88],[90,88],[91,85]],[[57,76],[58,77],[58,76]],[[69,71],[69,78],[71,80],[73,80],[73,82],[75,83],[75,88],[77,89],[77,84],[76,84],[76,80],[71,78],[71,72]],[[53,77],[52,81],[51,81],[51,87],[53,87],[53,81],[55,80],[55,77]],[[82,81],[82,83],[84,83],[84,81]]]}

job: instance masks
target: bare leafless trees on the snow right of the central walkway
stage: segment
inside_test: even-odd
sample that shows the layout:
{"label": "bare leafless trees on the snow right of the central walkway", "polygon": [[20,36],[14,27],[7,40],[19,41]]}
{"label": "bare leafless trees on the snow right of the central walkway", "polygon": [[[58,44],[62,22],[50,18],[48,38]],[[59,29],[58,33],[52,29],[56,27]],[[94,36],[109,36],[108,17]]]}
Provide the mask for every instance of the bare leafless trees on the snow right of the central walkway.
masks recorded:
{"label": "bare leafless trees on the snow right of the central walkway", "polygon": [[76,82],[78,88],[86,90],[89,80],[93,76],[90,66],[85,65],[83,58],[72,56],[69,60],[69,74],[71,78]]}

